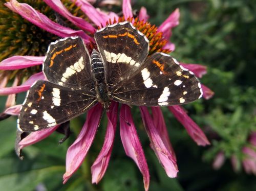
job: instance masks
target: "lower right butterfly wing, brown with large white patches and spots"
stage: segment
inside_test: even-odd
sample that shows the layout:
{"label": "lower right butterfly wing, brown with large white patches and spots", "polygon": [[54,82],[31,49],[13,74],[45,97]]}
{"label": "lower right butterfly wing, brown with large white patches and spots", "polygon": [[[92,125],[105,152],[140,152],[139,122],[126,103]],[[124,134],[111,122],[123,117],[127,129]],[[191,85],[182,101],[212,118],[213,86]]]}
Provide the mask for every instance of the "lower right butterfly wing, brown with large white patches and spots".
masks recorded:
{"label": "lower right butterfly wing, brown with large white patches and spots", "polygon": [[113,89],[115,101],[139,106],[180,105],[202,96],[196,76],[164,53],[148,57],[136,74]]}

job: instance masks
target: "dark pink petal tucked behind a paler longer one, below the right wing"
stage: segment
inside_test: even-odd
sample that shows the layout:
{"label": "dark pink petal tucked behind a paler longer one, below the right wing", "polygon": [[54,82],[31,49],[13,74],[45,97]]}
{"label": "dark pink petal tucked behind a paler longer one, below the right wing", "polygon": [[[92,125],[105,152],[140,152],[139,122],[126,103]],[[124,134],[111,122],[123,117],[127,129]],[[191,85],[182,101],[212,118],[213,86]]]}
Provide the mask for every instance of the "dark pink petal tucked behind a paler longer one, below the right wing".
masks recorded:
{"label": "dark pink petal tucked behind a paler longer one, below the right wing", "polygon": [[158,131],[160,137],[162,137],[162,141],[165,145],[165,147],[170,151],[170,153],[173,155],[174,159],[176,159],[176,155],[174,152],[174,149],[172,145],[170,144],[170,139],[168,136],[168,131],[166,129],[166,125],[164,122],[163,113],[161,111],[160,107],[151,107],[152,109],[152,116],[153,116],[153,122],[156,127],[156,130]]}

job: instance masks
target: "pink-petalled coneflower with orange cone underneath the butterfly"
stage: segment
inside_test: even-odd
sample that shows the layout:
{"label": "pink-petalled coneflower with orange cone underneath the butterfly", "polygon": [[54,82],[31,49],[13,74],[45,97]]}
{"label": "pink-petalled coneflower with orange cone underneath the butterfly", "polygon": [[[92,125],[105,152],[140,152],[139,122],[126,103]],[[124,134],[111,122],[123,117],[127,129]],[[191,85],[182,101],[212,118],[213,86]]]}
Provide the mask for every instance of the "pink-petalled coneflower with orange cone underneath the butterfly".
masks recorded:
{"label": "pink-petalled coneflower with orange cone underneath the butterfly", "polygon": [[[119,18],[114,12],[105,13],[99,9],[95,9],[88,1],[85,0],[72,0],[76,6],[80,7],[80,10],[84,12],[91,20],[88,22],[80,17],[72,15],[65,6],[60,2],[60,0],[44,0],[54,11],[58,12],[63,17],[66,17],[80,30],[73,30],[65,26],[59,25],[58,23],[50,20],[44,14],[36,11],[31,6],[27,4],[20,4],[16,0],[10,0],[10,2],[5,5],[12,11],[21,15],[28,21],[32,22],[37,27],[40,27],[50,33],[53,33],[59,37],[67,36],[80,36],[83,38],[85,43],[93,43],[93,33],[96,31],[97,27],[104,27],[106,22],[111,23],[116,20],[130,20],[134,22],[134,25],[138,30],[144,30],[143,27],[150,25],[147,22],[148,15],[145,8],[141,8],[137,19],[133,19],[133,13],[131,8],[131,2],[129,0],[123,0],[122,9],[123,17]],[[156,51],[161,51],[169,53],[175,50],[175,45],[169,41],[172,35],[172,28],[179,25],[179,9],[176,9],[170,16],[162,23],[158,28],[150,27],[147,30],[154,30],[154,33],[148,34],[147,36],[152,42],[151,53]],[[150,25],[151,26],[151,25]],[[158,35],[158,36],[154,36]],[[160,44],[160,45],[159,45]],[[35,65],[42,64],[44,57],[34,57],[34,56],[13,56],[11,58],[5,59],[0,63],[1,70],[13,70],[21,69],[26,67],[31,67]],[[193,71],[195,75],[199,78],[206,74],[206,67],[198,64],[185,64],[181,63],[183,67],[188,68]],[[30,86],[37,80],[46,80],[42,73],[37,73],[32,75],[26,82],[22,85],[17,86],[14,84],[12,87],[5,87],[6,83],[2,82],[0,84],[0,94],[1,95],[12,95],[22,91],[27,91]],[[202,85],[203,97],[209,99],[213,92]],[[12,99],[13,100],[13,99]],[[8,101],[8,103],[10,100]],[[102,149],[93,163],[92,170],[92,182],[98,183],[108,167],[110,160],[114,136],[116,132],[117,124],[117,111],[118,103],[112,102],[108,117],[108,126],[106,128],[106,134]],[[8,104],[5,114],[17,115],[19,113],[21,105],[14,105],[14,103]],[[188,134],[195,140],[195,142],[200,146],[209,145],[209,141],[204,135],[203,131],[198,127],[198,125],[191,120],[187,115],[186,111],[181,106],[170,106],[168,109],[174,114],[177,120],[185,127]],[[152,107],[152,115],[148,111],[147,107],[140,107],[142,121],[146,130],[146,133],[151,141],[151,147],[157,155],[159,162],[162,164],[166,174],[169,177],[176,177],[178,173],[178,166],[176,162],[176,156],[174,149],[170,144],[168,138],[167,129],[165,126],[162,111],[159,107]],[[86,157],[88,150],[95,137],[97,127],[100,123],[100,118],[102,114],[102,107],[100,104],[95,105],[92,109],[87,112],[87,120],[84,123],[81,132],[79,133],[75,142],[69,147],[66,157],[66,173],[63,175],[63,182],[67,182],[68,179],[75,173],[79,168],[82,161]],[[150,174],[148,171],[148,166],[144,156],[142,146],[136,131],[136,127],[133,122],[131,109],[129,106],[122,104],[120,110],[120,136],[122,144],[127,156],[130,156],[137,164],[140,172],[143,175],[145,190],[148,190],[150,183]],[[129,122],[128,125],[126,122]],[[49,136],[53,131],[55,131],[58,126],[51,127],[45,130],[32,132],[26,138],[19,142],[19,149],[26,146],[34,144],[41,139]]]}

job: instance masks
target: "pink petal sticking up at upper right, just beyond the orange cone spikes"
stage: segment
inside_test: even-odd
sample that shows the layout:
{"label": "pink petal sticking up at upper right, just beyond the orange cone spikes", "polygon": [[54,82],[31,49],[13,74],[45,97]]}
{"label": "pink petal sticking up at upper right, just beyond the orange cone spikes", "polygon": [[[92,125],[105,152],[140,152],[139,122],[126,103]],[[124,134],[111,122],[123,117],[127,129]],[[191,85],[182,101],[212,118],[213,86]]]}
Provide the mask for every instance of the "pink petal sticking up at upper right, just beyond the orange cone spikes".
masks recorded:
{"label": "pink petal sticking up at upper right, just beyond the orange cone spikes", "polygon": [[169,17],[158,27],[158,31],[163,33],[163,37],[169,40],[172,35],[172,28],[179,25],[180,11],[175,9],[175,11],[169,15]]}

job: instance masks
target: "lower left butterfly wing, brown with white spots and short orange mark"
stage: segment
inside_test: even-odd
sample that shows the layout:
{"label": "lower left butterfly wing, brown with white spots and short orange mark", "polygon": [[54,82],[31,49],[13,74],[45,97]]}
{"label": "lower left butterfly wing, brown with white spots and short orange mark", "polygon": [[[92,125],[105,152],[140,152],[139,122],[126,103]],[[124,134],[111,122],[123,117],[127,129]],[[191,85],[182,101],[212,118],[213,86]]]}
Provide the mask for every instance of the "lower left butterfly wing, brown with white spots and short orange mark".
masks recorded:
{"label": "lower left butterfly wing, brown with white spots and short orange mark", "polygon": [[47,81],[37,81],[20,110],[18,127],[37,131],[71,120],[96,104],[84,91],[72,90]]}

